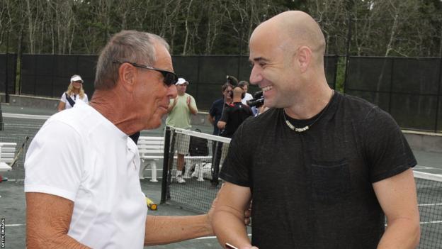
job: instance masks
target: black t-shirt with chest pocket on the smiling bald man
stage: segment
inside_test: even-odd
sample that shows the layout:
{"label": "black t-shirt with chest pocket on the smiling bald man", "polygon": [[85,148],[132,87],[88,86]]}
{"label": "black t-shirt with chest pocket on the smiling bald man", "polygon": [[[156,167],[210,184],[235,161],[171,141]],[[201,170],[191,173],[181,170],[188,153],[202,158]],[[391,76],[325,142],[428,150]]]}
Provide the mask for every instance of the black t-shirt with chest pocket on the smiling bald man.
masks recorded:
{"label": "black t-shirt with chest pocket on the smiling bald man", "polygon": [[[302,127],[314,118],[289,121]],[[372,184],[414,165],[389,114],[336,92],[302,133],[288,128],[283,109],[244,121],[220,177],[251,188],[252,244],[260,249],[376,248],[385,216]]]}

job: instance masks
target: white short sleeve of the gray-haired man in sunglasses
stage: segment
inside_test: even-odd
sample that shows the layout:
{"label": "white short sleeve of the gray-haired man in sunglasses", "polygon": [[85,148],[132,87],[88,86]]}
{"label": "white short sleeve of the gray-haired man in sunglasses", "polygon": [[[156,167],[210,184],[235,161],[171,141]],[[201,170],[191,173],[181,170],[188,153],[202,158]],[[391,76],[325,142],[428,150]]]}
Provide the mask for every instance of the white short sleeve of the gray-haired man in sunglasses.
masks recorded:
{"label": "white short sleeve of the gray-haired man in sunglasses", "polygon": [[33,138],[25,160],[25,192],[74,201],[81,182],[84,151],[77,132],[66,123],[47,121]]}

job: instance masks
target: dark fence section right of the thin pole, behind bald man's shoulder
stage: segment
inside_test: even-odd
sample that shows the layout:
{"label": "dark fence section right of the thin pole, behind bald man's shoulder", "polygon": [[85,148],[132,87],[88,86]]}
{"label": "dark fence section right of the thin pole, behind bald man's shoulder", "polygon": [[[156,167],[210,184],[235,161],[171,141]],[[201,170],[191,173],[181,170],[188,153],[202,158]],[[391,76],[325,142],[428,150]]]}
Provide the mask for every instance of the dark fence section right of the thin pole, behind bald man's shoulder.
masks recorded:
{"label": "dark fence section right of the thin pole, behind bald man's shoulder", "polygon": [[407,129],[442,131],[442,58],[349,57],[345,92],[389,112]]}

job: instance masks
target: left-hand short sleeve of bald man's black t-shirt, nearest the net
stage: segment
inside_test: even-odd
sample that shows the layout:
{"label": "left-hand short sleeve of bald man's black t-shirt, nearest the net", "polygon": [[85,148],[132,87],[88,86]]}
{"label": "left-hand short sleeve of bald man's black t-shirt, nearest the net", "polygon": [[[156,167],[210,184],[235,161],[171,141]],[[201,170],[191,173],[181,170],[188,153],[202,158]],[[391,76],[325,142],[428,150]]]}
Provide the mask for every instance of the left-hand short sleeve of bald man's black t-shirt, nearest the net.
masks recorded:
{"label": "left-hand short sleeve of bald man's black t-shirt, nearest the net", "polygon": [[251,187],[249,181],[250,151],[244,138],[244,126],[239,126],[230,140],[229,152],[222,164],[220,178],[242,187]]}

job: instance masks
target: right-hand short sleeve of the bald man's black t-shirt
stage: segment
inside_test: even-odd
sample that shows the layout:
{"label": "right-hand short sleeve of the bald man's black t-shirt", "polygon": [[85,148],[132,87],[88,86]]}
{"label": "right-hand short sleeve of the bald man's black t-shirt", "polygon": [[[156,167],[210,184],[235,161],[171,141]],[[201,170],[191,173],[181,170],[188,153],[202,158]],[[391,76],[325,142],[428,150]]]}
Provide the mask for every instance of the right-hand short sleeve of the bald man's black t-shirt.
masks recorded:
{"label": "right-hand short sleeve of the bald man's black t-shirt", "polygon": [[416,165],[407,140],[390,114],[374,107],[363,125],[371,182],[392,177]]}

